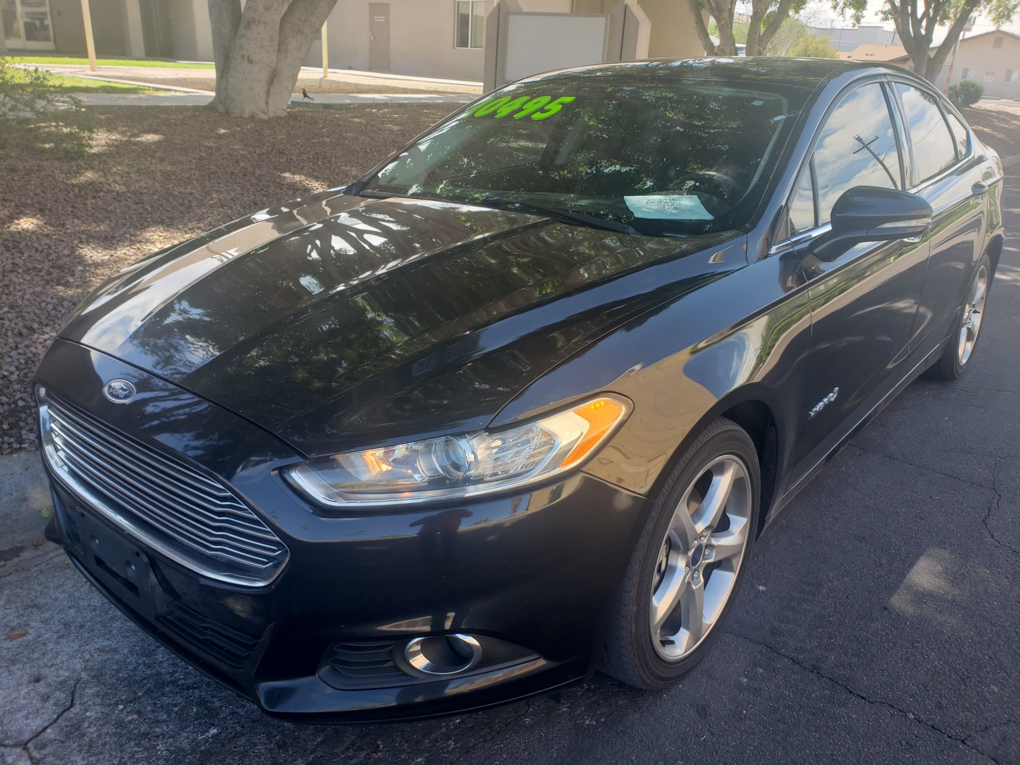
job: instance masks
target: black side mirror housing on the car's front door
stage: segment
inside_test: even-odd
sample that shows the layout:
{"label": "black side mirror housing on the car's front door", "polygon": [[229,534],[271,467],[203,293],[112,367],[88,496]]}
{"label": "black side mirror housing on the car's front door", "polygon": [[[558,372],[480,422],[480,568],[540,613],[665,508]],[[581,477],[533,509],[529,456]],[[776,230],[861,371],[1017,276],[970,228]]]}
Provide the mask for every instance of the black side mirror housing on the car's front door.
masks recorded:
{"label": "black side mirror housing on the car's front door", "polygon": [[923,235],[931,225],[931,205],[916,194],[855,186],[832,206],[832,231],[820,237],[811,254],[835,260],[861,242],[892,242]]}

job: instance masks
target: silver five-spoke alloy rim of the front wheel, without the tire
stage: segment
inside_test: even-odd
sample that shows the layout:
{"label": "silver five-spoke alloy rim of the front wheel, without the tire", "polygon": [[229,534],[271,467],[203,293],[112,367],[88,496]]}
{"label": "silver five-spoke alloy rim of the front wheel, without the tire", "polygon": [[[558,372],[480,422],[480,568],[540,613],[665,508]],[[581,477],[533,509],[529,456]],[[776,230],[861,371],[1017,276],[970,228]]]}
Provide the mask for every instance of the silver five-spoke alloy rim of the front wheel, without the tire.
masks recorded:
{"label": "silver five-spoke alloy rim of the front wheel, without the tire", "polygon": [[750,538],[751,479],[733,455],[714,459],[687,487],[666,529],[649,609],[662,659],[690,655],[719,620]]}

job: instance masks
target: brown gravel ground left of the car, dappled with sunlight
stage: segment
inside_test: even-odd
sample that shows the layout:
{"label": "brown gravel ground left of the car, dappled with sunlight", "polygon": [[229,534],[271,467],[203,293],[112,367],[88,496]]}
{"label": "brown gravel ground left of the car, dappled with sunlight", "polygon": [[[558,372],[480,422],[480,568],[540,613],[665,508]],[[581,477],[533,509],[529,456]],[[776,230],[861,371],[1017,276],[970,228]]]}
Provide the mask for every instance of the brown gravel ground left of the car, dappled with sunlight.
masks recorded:
{"label": "brown gravel ground left of the car, dappled with sunlight", "polygon": [[0,152],[0,454],[35,448],[31,379],[74,306],[140,257],[243,214],[339,186],[449,113],[444,106],[94,109],[83,160]]}

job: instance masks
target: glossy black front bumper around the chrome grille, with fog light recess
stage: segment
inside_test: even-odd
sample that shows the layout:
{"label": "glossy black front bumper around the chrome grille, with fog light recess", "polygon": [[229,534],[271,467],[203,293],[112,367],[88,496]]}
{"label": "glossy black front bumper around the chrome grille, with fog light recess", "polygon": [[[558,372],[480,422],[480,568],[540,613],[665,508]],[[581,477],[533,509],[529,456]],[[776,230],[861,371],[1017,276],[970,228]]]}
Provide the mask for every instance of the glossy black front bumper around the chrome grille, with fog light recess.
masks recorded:
{"label": "glossy black front bumper around the chrome grille, with fog light recess", "polygon": [[[138,401],[105,401],[99,392],[113,377],[131,379]],[[300,455],[209,402],[62,341],[37,378],[118,431],[215,476],[286,544],[290,559],[267,585],[217,581],[129,538],[50,473],[50,539],[135,623],[265,712],[338,722],[429,717],[592,671],[646,499],[580,472],[516,496],[327,517],[278,474]],[[129,558],[137,562],[131,580]],[[380,686],[368,678],[356,688],[327,682],[322,671],[338,644],[399,650],[409,639],[454,632],[519,647],[520,659],[436,680],[391,673]]]}

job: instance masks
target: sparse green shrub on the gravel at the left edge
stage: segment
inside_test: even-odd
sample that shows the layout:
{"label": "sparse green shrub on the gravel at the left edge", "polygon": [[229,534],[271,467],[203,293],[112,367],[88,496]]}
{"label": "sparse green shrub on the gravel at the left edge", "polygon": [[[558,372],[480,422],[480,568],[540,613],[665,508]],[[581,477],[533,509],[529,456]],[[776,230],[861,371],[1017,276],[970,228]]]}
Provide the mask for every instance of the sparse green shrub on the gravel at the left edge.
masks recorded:
{"label": "sparse green shrub on the gravel at the left edge", "polygon": [[60,94],[48,71],[15,66],[0,56],[0,145],[31,145],[79,157],[94,131],[82,101]]}

